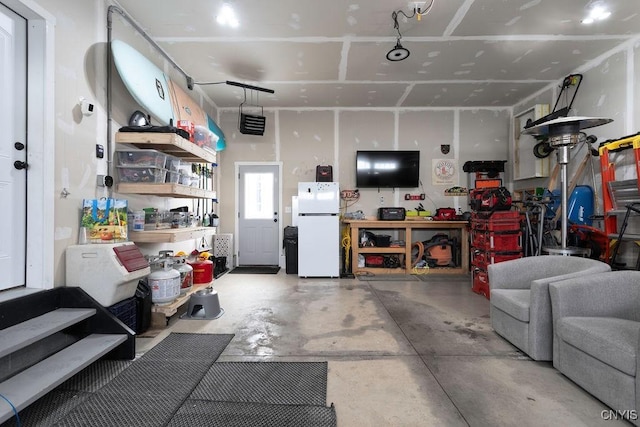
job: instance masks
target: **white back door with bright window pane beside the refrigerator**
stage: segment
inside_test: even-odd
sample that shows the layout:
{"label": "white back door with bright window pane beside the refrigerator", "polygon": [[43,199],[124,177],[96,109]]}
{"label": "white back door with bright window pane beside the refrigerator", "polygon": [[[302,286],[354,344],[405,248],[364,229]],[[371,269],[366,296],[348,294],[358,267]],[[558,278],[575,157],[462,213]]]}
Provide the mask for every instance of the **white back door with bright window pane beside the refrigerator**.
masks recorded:
{"label": "white back door with bright window pane beside the refrigerator", "polygon": [[278,265],[280,166],[240,165],[238,265]]}

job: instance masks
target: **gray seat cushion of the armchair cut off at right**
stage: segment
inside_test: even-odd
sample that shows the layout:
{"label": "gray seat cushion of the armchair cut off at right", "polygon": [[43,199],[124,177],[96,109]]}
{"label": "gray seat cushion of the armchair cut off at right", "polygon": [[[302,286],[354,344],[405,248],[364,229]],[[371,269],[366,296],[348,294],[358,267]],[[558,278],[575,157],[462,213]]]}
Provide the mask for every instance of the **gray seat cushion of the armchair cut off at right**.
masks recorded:
{"label": "gray seat cushion of the armchair cut off at right", "polygon": [[627,375],[636,376],[640,322],[612,317],[563,317],[558,337]]}

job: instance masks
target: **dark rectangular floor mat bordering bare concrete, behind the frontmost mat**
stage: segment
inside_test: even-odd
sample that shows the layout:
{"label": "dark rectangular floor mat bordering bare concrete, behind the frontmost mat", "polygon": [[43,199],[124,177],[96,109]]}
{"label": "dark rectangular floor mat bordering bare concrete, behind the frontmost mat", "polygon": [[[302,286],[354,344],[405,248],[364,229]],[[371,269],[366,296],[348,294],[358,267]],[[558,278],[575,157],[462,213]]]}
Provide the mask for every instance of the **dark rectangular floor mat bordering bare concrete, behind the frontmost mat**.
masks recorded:
{"label": "dark rectangular floor mat bordering bare concrete, behind the frontmost mat", "polygon": [[326,362],[216,362],[190,398],[324,406],[326,396]]}

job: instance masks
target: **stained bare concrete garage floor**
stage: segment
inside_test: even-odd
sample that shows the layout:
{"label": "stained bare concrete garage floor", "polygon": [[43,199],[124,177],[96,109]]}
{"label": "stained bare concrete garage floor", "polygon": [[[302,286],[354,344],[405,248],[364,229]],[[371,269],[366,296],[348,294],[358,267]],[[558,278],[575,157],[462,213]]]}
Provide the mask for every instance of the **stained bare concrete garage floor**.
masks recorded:
{"label": "stained bare concrete garage floor", "polygon": [[[216,320],[169,332],[233,333],[219,361],[328,361],[339,426],[614,426],[608,408],[491,329],[466,277],[428,281],[225,274]],[[177,316],[174,316],[177,317]]]}

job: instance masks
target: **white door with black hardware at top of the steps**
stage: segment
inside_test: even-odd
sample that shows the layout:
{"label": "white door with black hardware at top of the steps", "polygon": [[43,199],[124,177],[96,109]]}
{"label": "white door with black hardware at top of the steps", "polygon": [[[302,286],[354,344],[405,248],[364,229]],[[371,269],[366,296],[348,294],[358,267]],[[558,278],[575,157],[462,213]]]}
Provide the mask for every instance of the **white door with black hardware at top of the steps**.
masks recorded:
{"label": "white door with black hardware at top of the steps", "polygon": [[0,290],[25,284],[26,20],[0,4]]}

